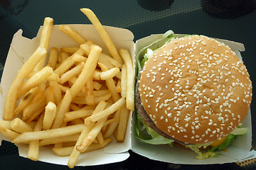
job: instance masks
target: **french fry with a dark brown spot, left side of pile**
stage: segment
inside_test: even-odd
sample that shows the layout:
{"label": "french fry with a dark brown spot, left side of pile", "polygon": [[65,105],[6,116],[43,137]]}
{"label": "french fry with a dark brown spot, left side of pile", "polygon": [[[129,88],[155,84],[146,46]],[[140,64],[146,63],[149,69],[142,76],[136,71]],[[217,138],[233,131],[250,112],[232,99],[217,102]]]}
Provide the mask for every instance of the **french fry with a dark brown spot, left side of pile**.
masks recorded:
{"label": "french fry with a dark brown spot, left side of pile", "polygon": [[21,101],[18,103],[18,106],[16,110],[14,111],[14,115],[18,115],[18,113],[21,113],[23,108],[25,108],[28,103],[30,103],[33,99],[33,96],[36,94],[36,91],[38,90],[38,86],[34,87],[30,91],[28,91],[23,98],[21,98]]}

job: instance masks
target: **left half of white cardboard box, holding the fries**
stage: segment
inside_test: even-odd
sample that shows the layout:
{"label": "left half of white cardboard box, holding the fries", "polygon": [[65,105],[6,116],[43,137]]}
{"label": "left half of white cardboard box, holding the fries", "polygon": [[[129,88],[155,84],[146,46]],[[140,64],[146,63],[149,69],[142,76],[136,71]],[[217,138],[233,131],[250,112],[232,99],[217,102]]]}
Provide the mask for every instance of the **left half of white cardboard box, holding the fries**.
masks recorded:
{"label": "left half of white cardboard box, holding the fries", "polygon": [[[95,44],[102,47],[102,51],[109,53],[104,42],[100,38],[100,35],[95,30],[95,27],[92,25],[69,25],[74,28],[80,35],[82,35],[86,40],[92,40]],[[42,27],[41,27],[42,28]],[[14,34],[14,38],[11,42],[11,47],[6,58],[6,63],[4,67],[4,72],[1,77],[1,91],[0,95],[0,120],[2,120],[2,115],[4,113],[4,103],[6,96],[11,86],[12,81],[16,77],[18,70],[21,68],[22,64],[28,60],[33,52],[39,45],[41,29],[38,31],[36,38],[28,39],[22,36],[22,30],[18,30]],[[129,31],[122,28],[113,28],[105,26],[105,30],[112,38],[112,41],[116,45],[117,49],[124,48],[129,50],[132,58],[134,58],[134,35]],[[72,40],[68,35],[65,35],[63,32],[58,30],[58,26],[53,26],[53,32],[50,38],[51,47],[74,47],[79,46],[77,42]],[[132,120],[132,113],[129,117],[129,122]],[[0,141],[7,140],[10,141],[7,137],[4,137],[0,134]],[[119,142],[110,142],[107,147],[100,149],[94,152],[82,153],[77,162],[77,166],[91,166],[99,164],[110,164],[113,162],[122,162],[129,157],[128,150],[131,146],[131,123],[128,123],[127,133],[125,141],[122,143]],[[18,144],[18,152],[21,157],[27,157],[28,154],[28,145]],[[69,157],[59,157],[51,151],[49,147],[40,147],[39,150],[39,161],[48,162],[52,164],[68,164]]]}

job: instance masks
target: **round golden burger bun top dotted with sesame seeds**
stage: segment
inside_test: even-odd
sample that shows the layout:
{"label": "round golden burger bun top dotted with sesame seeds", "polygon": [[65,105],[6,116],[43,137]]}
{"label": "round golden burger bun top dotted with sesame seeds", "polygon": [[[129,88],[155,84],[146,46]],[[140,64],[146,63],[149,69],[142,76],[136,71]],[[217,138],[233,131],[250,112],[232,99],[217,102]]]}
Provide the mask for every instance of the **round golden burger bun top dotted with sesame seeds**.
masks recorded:
{"label": "round golden burger bun top dotted with sesame seeds", "polygon": [[176,140],[220,140],[245,118],[252,83],[235,52],[213,38],[171,40],[144,65],[142,105],[157,128]]}

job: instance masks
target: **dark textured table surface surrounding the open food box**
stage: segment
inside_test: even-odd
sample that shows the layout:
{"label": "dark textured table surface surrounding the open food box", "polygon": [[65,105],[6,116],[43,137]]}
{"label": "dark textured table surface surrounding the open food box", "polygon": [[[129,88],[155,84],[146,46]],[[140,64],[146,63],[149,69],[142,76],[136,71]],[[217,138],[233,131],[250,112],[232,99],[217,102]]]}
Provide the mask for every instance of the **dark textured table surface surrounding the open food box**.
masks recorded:
{"label": "dark textured table surface surrounding the open food box", "polygon": [[[80,8],[91,8],[102,25],[127,28],[134,33],[134,41],[153,33],[201,34],[242,42],[242,57],[247,66],[252,86],[256,83],[255,67],[255,0],[97,0],[97,1],[32,1],[0,0],[0,75],[17,30],[23,36],[36,36],[43,19],[50,16],[55,24],[90,23]],[[256,149],[255,93],[252,96],[252,149]],[[129,151],[124,162],[75,169],[256,169],[255,164],[180,165],[156,162]],[[18,157],[17,148],[3,141],[0,147],[0,169],[68,169]]]}

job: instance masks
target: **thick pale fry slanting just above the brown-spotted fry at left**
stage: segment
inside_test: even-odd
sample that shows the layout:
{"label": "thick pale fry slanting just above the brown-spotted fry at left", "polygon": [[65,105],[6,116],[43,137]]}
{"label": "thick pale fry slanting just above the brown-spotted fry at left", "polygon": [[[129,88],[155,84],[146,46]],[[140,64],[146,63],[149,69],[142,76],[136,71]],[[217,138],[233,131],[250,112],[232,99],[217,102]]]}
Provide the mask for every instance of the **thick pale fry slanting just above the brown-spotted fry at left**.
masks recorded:
{"label": "thick pale fry slanting just above the brown-spotted fry at left", "polygon": [[45,81],[51,74],[53,74],[53,68],[52,67],[43,67],[39,72],[37,72],[33,77],[26,80],[20,87],[18,91],[18,98],[23,96],[23,94],[26,94],[26,92],[29,91],[29,89],[38,86],[43,81]]}

